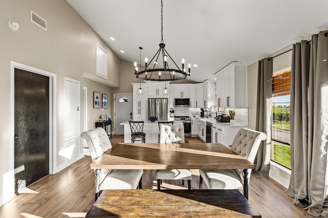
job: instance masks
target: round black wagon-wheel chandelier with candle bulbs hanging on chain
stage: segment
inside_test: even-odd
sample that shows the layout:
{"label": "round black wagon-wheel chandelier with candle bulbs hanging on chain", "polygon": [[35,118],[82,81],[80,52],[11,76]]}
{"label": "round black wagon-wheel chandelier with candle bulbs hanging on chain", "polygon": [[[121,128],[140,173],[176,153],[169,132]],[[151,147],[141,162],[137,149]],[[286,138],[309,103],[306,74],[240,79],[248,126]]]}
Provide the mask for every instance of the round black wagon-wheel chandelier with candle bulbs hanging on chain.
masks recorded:
{"label": "round black wagon-wheel chandelier with candle bulbs hanging on chain", "polygon": [[[182,67],[180,69],[165,49],[165,44],[163,41],[163,1],[162,0],[161,0],[161,37],[162,38],[159,43],[159,50],[156,52],[156,54],[154,55],[154,57],[151,59],[150,62],[148,62],[148,58],[145,59],[146,64],[144,70],[138,71],[137,62],[134,62],[134,74],[136,75],[137,78],[146,81],[147,80],[174,81],[174,80],[186,79],[187,76],[190,76],[191,65],[188,64],[188,72],[186,72],[185,59],[182,59]],[[150,67],[152,63],[154,65],[153,67]],[[159,66],[159,63],[162,63],[162,66]],[[173,65],[173,68],[170,68],[169,65]]]}

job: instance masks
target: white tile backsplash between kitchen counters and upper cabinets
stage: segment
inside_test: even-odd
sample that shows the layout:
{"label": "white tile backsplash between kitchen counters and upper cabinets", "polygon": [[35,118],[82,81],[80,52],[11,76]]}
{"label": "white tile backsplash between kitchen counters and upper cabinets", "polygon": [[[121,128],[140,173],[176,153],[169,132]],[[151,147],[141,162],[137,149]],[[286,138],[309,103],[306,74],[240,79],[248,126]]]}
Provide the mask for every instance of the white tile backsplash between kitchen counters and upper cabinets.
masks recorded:
{"label": "white tile backsplash between kitchen counters and upper cabinets", "polygon": [[[229,114],[229,110],[234,109],[236,112],[235,120],[237,124],[248,126],[248,108],[224,108],[224,113]],[[170,108],[174,110],[174,116],[192,116],[193,113],[197,112],[200,115],[200,108]],[[211,110],[212,117],[215,116],[214,108]],[[208,114],[210,114],[208,112]],[[206,112],[205,112],[206,115]]]}

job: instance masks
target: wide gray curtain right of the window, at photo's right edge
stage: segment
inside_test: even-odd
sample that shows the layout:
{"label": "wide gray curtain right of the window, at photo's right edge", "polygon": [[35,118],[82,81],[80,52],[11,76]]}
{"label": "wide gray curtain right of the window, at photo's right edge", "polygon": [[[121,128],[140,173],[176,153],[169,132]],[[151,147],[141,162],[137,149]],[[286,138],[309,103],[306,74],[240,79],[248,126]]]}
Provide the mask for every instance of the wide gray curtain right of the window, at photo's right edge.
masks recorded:
{"label": "wide gray curtain right of the window, at photo's right edge", "polygon": [[286,193],[314,216],[328,217],[328,31],[293,45],[291,181]]}

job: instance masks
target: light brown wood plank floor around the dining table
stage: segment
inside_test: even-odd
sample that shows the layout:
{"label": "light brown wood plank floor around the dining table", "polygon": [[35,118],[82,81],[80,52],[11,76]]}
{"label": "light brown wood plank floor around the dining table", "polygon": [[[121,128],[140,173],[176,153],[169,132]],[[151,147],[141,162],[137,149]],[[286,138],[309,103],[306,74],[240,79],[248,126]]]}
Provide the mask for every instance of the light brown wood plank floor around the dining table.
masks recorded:
{"label": "light brown wood plank floor around the dining table", "polygon": [[[123,142],[122,135],[113,135],[112,144]],[[188,138],[186,143],[200,142]],[[25,193],[17,193],[12,201],[0,207],[0,217],[85,217],[94,203],[94,173],[85,156],[55,175],[48,175],[30,185]],[[198,189],[199,173],[193,170],[192,189]],[[145,171],[143,188],[156,189],[155,171]],[[186,182],[187,183],[187,182]],[[180,181],[163,181],[163,188],[181,188]],[[185,187],[187,189],[187,184]],[[204,184],[204,189],[206,185]],[[286,188],[274,180],[252,173],[249,200],[262,217],[313,217],[292,204]]]}

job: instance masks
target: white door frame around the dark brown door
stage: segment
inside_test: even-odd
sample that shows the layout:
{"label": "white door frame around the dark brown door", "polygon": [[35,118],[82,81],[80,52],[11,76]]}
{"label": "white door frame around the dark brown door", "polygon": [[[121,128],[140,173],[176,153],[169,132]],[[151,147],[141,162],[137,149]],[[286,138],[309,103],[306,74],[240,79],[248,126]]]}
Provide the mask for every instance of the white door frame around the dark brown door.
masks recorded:
{"label": "white door frame around the dark brown door", "polygon": [[[29,72],[33,72],[34,74],[43,75],[49,77],[49,174],[55,174],[56,169],[56,141],[57,141],[57,75],[53,74],[52,72],[48,72],[43,69],[38,69],[32,66],[28,66],[22,63],[18,63],[15,61],[10,61],[10,163],[9,167],[11,169],[11,174],[8,177],[7,184],[12,184],[14,181],[14,135],[15,135],[15,68],[26,70]],[[14,185],[12,185],[12,198],[14,195]]]}

